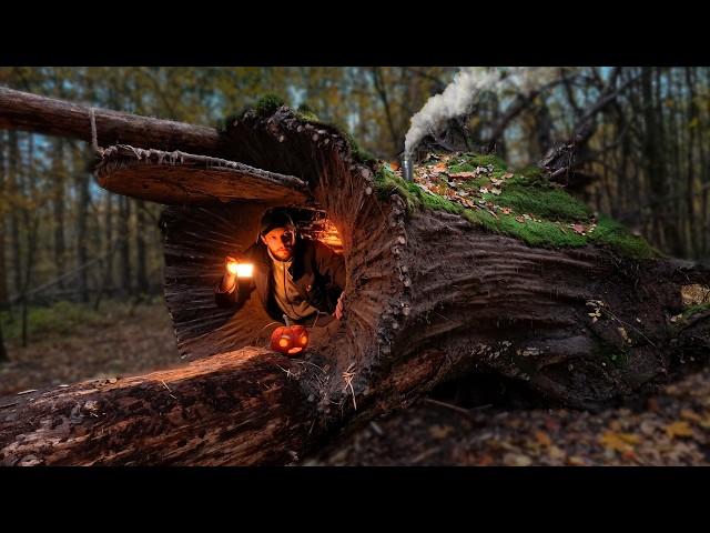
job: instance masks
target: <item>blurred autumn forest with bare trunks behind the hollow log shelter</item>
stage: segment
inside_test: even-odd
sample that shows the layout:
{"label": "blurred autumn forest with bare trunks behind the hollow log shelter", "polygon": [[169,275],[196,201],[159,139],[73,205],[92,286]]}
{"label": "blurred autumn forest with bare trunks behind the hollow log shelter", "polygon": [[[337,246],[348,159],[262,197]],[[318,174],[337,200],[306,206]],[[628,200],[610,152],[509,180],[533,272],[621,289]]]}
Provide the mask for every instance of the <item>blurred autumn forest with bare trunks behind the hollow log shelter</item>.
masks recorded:
{"label": "blurred autumn forest with bare trunks behind the hollow log shelter", "polygon": [[[338,124],[374,157],[394,161],[410,118],[457,71],[0,67],[0,86],[205,125],[220,125],[274,93]],[[710,68],[549,69],[529,94],[483,94],[458,125],[476,150],[525,167],[588,118],[592,132],[577,161],[585,183],[574,194],[668,255],[709,260]],[[91,147],[80,141],[0,130],[0,395],[180,362],[162,303],[162,207],[99,188],[92,162]],[[532,424],[534,416],[518,425]],[[382,428],[375,426],[377,436]],[[428,439],[446,436],[440,424],[425,426]],[[389,431],[404,431],[397,428]],[[539,446],[550,446],[552,430],[530,431]],[[704,461],[701,447],[678,456]],[[607,449],[600,445],[600,453]],[[513,455],[518,461],[520,454]],[[567,455],[587,461],[592,454]],[[613,456],[621,461],[622,453]],[[457,457],[450,462],[467,461]],[[357,462],[347,459],[341,457]]]}

